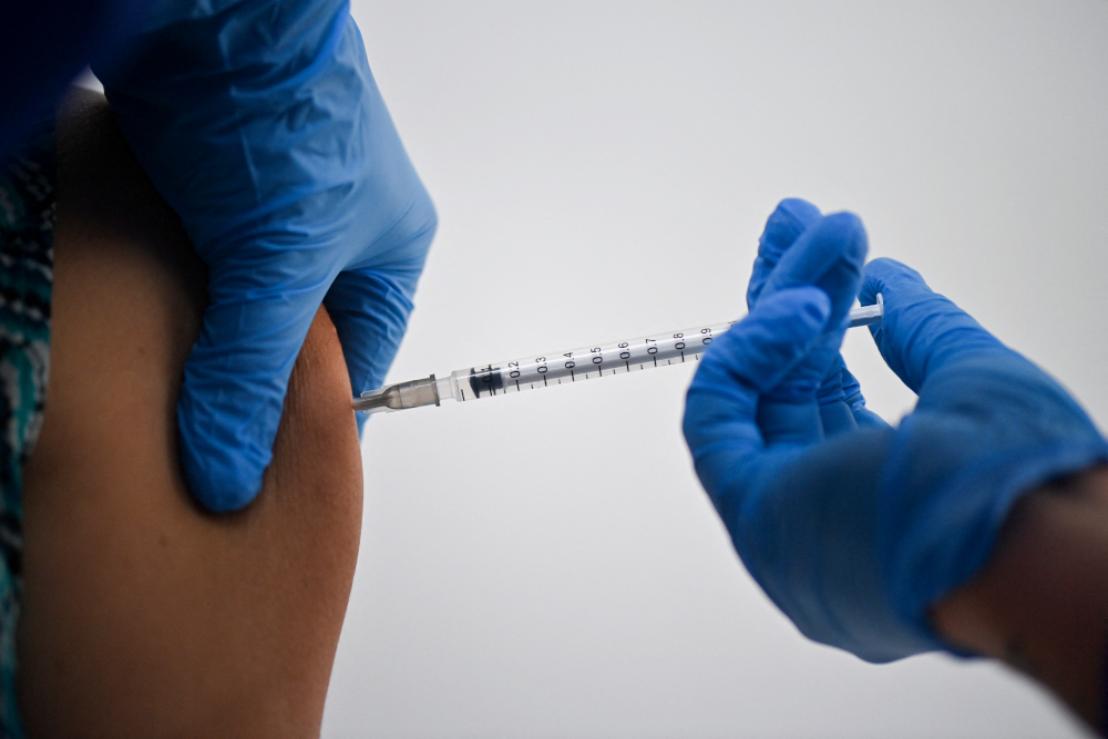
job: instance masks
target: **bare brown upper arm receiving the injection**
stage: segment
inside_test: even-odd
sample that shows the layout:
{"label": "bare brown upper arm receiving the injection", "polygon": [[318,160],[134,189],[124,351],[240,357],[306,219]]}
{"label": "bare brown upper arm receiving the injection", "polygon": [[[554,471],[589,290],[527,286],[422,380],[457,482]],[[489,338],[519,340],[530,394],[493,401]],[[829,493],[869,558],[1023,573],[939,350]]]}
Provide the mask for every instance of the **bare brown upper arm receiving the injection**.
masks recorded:
{"label": "bare brown upper arm receiving the injection", "polygon": [[102,96],[59,117],[52,369],[24,490],[18,635],[34,737],[311,737],[353,576],[362,478],[316,316],[244,511],[193,503],[175,403],[205,270]]}

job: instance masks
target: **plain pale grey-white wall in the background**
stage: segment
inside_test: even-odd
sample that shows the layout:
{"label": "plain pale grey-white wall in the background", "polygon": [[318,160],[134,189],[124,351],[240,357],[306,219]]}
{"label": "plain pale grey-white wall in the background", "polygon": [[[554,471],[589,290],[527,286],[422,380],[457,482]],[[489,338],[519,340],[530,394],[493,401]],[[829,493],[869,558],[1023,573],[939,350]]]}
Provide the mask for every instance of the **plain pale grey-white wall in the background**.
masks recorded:
{"label": "plain pale grey-white wall in the background", "polygon": [[[441,217],[390,379],[738,316],[802,196],[1108,421],[1108,2],[353,12]],[[691,369],[370,421],[325,737],[1080,735],[1001,668],[799,636],[693,473]]]}

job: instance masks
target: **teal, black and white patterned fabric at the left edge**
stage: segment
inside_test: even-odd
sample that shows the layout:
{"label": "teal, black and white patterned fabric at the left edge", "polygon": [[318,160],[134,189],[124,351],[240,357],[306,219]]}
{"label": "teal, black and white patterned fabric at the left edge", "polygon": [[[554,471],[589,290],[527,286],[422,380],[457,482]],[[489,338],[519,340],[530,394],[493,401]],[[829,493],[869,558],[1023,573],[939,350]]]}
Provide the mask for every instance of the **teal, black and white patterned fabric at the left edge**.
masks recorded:
{"label": "teal, black and white patterned fabric at the left edge", "polygon": [[54,127],[0,162],[0,737],[23,736],[16,700],[23,463],[42,425],[50,373]]}

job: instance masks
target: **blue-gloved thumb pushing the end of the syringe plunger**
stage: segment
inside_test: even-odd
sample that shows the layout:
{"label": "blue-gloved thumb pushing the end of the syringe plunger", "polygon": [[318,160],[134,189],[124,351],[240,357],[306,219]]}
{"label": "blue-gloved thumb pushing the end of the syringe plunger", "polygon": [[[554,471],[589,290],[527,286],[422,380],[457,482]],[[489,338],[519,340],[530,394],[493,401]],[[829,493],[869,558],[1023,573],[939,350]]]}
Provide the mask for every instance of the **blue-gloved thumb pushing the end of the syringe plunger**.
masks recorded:
{"label": "blue-gloved thumb pushing the end of the syringe plunger", "polygon": [[914,269],[893,259],[865,266],[862,305],[880,292],[885,312],[870,327],[889,368],[919,393],[940,368],[982,352],[1006,351],[992,333],[947,298],[932,291]]}

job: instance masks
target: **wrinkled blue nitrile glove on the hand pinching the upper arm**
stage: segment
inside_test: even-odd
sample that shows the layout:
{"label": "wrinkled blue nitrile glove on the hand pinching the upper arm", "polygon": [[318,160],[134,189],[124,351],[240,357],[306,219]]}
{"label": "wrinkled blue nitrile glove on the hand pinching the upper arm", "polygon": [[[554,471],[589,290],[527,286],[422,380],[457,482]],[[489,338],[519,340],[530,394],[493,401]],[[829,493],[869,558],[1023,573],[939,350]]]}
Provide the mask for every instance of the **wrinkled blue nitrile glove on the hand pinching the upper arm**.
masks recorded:
{"label": "wrinkled blue nitrile glove on the hand pinching the upper arm", "polygon": [[193,493],[249,503],[327,306],[355,392],[379,387],[435,228],[343,0],[164,0],[101,74],[209,269],[177,407]]}

